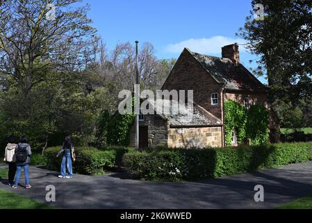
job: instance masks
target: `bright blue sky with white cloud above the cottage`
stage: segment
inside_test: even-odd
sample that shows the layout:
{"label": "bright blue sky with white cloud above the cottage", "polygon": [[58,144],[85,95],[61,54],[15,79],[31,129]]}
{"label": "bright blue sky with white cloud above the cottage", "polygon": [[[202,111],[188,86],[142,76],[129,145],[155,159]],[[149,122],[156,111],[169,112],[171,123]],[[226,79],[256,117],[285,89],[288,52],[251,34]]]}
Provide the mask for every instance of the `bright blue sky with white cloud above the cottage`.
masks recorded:
{"label": "bright blue sky with white cloud above the cottage", "polygon": [[[221,47],[244,43],[235,33],[252,9],[250,0],[84,0],[88,16],[108,49],[117,43],[149,42],[160,59],[177,58],[183,47],[221,56]],[[255,56],[240,49],[247,68]],[[264,79],[261,79],[265,82]]]}

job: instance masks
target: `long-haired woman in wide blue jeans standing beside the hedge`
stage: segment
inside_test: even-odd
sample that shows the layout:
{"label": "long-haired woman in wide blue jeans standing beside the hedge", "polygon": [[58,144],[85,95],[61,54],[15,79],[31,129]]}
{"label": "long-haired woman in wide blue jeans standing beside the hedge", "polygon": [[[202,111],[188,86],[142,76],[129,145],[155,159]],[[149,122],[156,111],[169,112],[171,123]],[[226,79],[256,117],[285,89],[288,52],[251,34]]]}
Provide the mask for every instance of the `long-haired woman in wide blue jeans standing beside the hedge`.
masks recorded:
{"label": "long-haired woman in wide blue jeans standing beside the hedge", "polygon": [[[63,158],[62,163],[60,164],[60,175],[58,178],[72,178],[72,160],[75,161],[76,155],[72,144],[72,136],[70,134],[66,135],[63,141],[63,146],[56,157],[59,157],[60,155],[63,155]],[[68,175],[66,173],[66,167]]]}

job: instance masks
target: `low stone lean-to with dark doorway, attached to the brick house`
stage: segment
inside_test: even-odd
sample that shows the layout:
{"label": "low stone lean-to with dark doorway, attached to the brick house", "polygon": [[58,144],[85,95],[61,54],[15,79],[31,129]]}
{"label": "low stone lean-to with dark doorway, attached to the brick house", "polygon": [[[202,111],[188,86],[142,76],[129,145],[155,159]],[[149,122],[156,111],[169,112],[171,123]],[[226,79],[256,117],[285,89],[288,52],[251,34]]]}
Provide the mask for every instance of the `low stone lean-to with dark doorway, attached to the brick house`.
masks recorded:
{"label": "low stone lean-to with dark doorway, attached to the brick house", "polygon": [[[140,148],[151,146],[174,147],[221,147],[222,122],[199,105],[192,109],[179,105],[174,100],[149,100],[156,114],[140,116]],[[161,107],[169,107],[170,113],[163,114]],[[179,107],[179,113],[172,112]],[[131,128],[130,146],[136,146],[136,131]]]}

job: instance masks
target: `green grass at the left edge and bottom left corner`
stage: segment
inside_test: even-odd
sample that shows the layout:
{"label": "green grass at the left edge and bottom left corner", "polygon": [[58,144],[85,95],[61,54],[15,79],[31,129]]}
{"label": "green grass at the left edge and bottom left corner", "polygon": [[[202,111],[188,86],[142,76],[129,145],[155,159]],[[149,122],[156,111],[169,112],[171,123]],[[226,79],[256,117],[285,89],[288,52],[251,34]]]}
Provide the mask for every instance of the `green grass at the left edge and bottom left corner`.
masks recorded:
{"label": "green grass at the left edge and bottom left corner", "polygon": [[[0,179],[8,178],[8,169],[0,168]],[[44,203],[28,199],[19,194],[0,190],[0,209],[52,209]]]}

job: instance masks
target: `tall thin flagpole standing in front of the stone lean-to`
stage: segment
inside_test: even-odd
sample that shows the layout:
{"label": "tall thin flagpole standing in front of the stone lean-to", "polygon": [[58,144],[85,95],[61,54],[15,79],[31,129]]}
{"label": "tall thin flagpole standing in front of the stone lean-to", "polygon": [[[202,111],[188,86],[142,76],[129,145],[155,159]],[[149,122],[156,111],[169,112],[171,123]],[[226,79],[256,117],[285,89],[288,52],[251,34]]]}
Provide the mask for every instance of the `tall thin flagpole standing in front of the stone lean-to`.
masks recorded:
{"label": "tall thin flagpole standing in front of the stone lean-to", "polygon": [[139,130],[139,116],[140,116],[140,96],[139,96],[139,93],[140,93],[140,77],[139,77],[139,69],[138,69],[138,43],[139,41],[136,40],[136,88],[137,89],[136,91],[138,92],[135,92],[135,103],[136,103],[136,149],[138,150],[140,148],[140,137],[139,137],[139,134],[140,134],[140,130]]}

